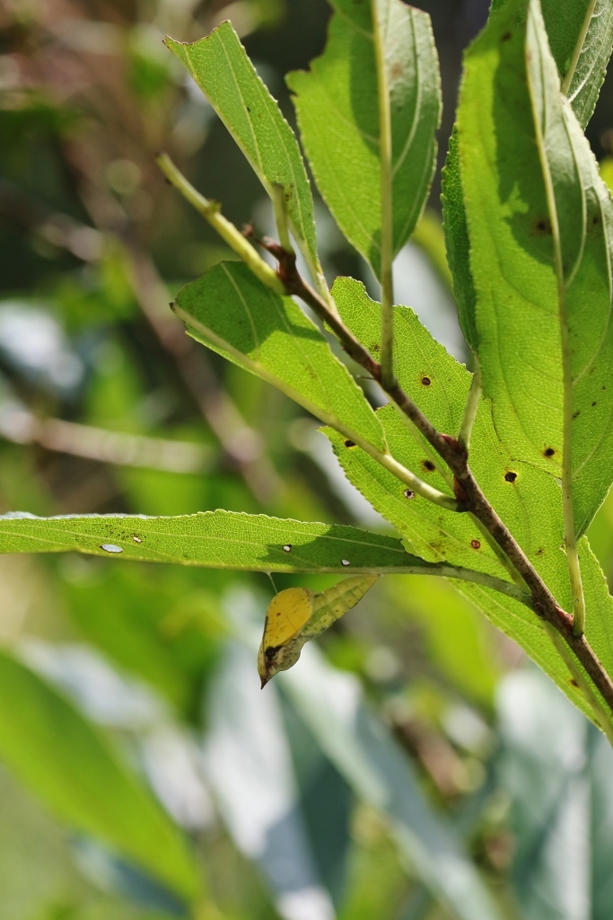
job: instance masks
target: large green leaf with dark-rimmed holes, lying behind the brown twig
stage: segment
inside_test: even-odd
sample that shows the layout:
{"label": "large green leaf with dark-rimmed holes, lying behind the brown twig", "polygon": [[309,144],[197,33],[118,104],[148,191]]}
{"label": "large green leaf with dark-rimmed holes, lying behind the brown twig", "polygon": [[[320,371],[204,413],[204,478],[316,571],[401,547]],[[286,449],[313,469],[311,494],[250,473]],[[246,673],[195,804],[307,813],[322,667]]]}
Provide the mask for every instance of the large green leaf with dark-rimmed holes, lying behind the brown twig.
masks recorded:
{"label": "large green leaf with dark-rimmed holes, lying behind the brown twig", "polygon": [[[379,349],[379,305],[371,301],[358,282],[337,279],[332,289],[340,316],[369,351]],[[395,307],[395,348],[399,381],[403,389],[422,408],[439,431],[455,434],[460,426],[462,406],[471,383],[471,374],[455,361],[430,336],[412,310]],[[406,466],[422,463],[426,475],[425,444],[392,407],[377,412],[392,451]],[[333,431],[326,431],[335,447],[346,476],[404,536],[404,544],[424,558],[446,560],[508,578],[468,515],[435,508],[417,495],[408,495],[402,484],[374,464],[358,447],[346,448]],[[433,458],[436,460],[436,456]],[[511,533],[565,609],[570,609],[571,594],[562,553],[563,523],[560,488],[555,480],[536,466],[513,460],[498,440],[492,422],[489,399],[482,398],[471,439],[471,469]],[[436,471],[428,475],[444,480]],[[538,513],[534,510],[538,509]],[[580,558],[587,608],[586,637],[598,658],[613,667],[610,634],[613,621],[606,582],[589,551],[587,540],[580,543]],[[470,597],[494,625],[503,630],[548,673],[551,679],[589,718],[594,714],[572,683],[572,676],[543,629],[539,618],[517,601],[482,585],[453,582]],[[609,664],[610,662],[610,664]],[[586,678],[587,679],[587,678]],[[596,692],[596,691],[595,691]]]}

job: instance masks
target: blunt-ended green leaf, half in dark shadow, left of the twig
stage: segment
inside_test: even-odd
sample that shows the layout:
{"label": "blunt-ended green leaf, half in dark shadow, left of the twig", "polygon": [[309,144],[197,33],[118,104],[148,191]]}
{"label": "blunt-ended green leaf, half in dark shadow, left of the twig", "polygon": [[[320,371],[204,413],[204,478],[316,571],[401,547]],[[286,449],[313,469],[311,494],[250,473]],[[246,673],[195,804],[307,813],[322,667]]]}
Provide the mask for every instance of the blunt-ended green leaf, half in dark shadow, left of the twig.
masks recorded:
{"label": "blunt-ended green leaf, half in dark shadow, left of the twig", "polygon": [[221,262],[187,284],[176,313],[194,339],[278,386],[352,441],[384,451],[379,421],[319,329],[242,263]]}

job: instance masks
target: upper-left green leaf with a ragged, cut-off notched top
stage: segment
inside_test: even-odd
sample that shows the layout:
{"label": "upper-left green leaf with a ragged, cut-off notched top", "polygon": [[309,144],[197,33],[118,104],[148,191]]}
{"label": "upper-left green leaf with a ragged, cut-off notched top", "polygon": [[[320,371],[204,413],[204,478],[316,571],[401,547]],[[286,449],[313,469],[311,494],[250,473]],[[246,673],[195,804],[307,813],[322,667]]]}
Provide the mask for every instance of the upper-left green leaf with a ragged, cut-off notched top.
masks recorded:
{"label": "upper-left green leaf with a ragged, cut-off notched top", "polygon": [[165,44],[186,65],[267,193],[282,186],[291,232],[313,278],[321,282],[312,194],[298,141],[232,24],[222,22],[206,39],[184,43],[167,38]]}

